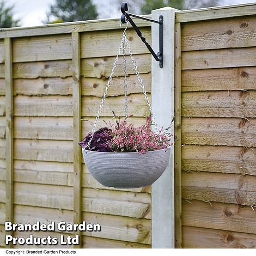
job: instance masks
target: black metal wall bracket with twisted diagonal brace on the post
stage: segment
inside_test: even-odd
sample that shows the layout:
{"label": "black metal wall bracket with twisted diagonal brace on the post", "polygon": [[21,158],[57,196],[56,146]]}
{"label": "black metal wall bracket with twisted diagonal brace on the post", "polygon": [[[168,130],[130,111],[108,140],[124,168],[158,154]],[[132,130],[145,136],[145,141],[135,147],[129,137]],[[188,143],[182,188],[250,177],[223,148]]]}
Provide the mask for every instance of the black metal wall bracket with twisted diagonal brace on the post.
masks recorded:
{"label": "black metal wall bracket with twisted diagonal brace on the post", "polygon": [[[121,16],[121,23],[125,24],[127,23],[127,21],[130,22],[130,24],[132,25],[132,27],[135,29],[137,35],[141,38],[141,40],[144,42],[144,44],[147,46],[148,50],[151,52],[151,54],[153,55],[153,57],[155,58],[155,60],[157,62],[159,62],[159,66],[160,68],[163,67],[163,16],[160,15],[159,16],[159,21],[155,21],[155,20],[150,20],[147,19],[145,17],[141,17],[141,16],[137,16],[135,14],[130,14],[130,13],[126,13],[126,11],[128,10],[128,5],[126,2],[123,2],[121,4],[121,12],[123,13]],[[141,20],[145,20],[145,21],[150,21],[150,22],[154,22],[159,24],[159,52],[155,53],[153,51],[153,49],[151,48],[151,46],[149,45],[149,43],[146,41],[146,39],[142,36],[141,31],[139,31],[138,27],[136,26],[136,24],[133,22],[133,20],[131,19],[132,17],[136,17],[138,19]]]}

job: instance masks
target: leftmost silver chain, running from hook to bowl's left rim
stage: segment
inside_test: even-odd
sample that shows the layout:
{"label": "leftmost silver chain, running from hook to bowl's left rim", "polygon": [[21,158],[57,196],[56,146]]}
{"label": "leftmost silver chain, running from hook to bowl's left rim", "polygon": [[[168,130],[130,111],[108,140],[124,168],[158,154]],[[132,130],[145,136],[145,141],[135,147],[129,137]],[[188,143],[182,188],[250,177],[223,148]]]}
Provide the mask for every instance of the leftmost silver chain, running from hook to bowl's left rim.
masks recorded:
{"label": "leftmost silver chain, running from hook to bowl's left rim", "polygon": [[106,100],[106,96],[107,96],[107,93],[108,93],[108,88],[109,88],[109,86],[110,86],[110,83],[111,83],[111,80],[112,80],[112,76],[113,76],[113,74],[114,74],[114,70],[115,70],[115,68],[117,67],[118,56],[120,55],[120,51],[121,51],[121,49],[123,48],[123,44],[124,44],[124,42],[125,42],[125,38],[126,38],[126,29],[128,28],[128,25],[129,25],[129,23],[127,22],[126,27],[125,27],[124,32],[123,32],[123,38],[122,38],[122,40],[121,40],[121,44],[120,44],[119,49],[118,49],[118,52],[117,52],[117,57],[115,57],[114,64],[113,64],[113,68],[112,68],[111,74],[110,74],[110,76],[109,76],[109,78],[108,78],[108,82],[107,82],[107,86],[106,86],[105,92],[104,92],[104,94],[103,94],[103,96],[102,96],[102,100],[101,100],[101,103],[100,103],[100,107],[99,107],[99,110],[98,110],[98,112],[97,112],[97,116],[96,116],[96,119],[95,119],[95,122],[94,122],[94,125],[93,125],[93,129],[92,129],[92,132],[91,132],[91,137],[90,137],[90,140],[89,140],[89,142],[88,142],[88,144],[87,144],[87,146],[86,146],[86,148],[89,148],[89,150],[90,150],[90,144],[92,143],[92,140],[93,140],[93,134],[94,134],[95,129],[96,129],[96,126],[97,126],[97,121],[99,121],[100,114],[101,114],[101,111],[102,111],[102,107],[103,107],[104,102],[105,102],[105,100]]}

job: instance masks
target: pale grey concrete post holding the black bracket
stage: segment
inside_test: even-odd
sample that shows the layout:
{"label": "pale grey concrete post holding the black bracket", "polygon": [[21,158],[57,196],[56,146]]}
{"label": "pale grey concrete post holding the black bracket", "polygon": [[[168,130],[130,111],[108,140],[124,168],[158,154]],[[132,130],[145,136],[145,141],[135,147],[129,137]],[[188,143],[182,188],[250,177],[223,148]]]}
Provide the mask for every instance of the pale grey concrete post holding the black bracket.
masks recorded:
{"label": "pale grey concrete post holding the black bracket", "polygon": [[[168,127],[174,117],[174,24],[175,9],[152,11],[163,15],[163,68],[152,58],[152,108],[157,124]],[[152,24],[152,46],[159,51],[159,25]],[[174,134],[174,125],[170,129]],[[174,147],[167,169],[152,186],[152,247],[174,248]]]}

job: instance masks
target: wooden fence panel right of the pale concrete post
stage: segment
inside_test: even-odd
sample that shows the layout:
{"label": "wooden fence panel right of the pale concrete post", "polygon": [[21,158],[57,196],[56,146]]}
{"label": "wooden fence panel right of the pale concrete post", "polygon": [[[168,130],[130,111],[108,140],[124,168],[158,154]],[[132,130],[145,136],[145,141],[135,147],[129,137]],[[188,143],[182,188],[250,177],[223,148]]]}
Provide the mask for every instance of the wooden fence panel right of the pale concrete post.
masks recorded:
{"label": "wooden fence panel right of the pale concrete post", "polygon": [[176,19],[182,247],[256,248],[256,4],[188,14]]}

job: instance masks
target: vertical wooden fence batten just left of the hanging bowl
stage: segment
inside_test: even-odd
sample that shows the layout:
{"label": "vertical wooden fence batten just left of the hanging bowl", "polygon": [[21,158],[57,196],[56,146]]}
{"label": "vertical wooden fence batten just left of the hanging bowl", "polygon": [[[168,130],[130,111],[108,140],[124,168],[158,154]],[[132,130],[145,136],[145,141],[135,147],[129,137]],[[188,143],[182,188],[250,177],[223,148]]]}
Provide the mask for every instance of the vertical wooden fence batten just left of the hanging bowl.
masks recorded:
{"label": "vertical wooden fence batten just left of the hanging bowl", "polygon": [[[80,59],[80,34],[72,32],[72,68],[73,68],[73,125],[74,125],[74,223],[82,221],[82,163],[81,147],[81,59]],[[80,236],[82,246],[82,233],[75,231],[74,235]]]}

